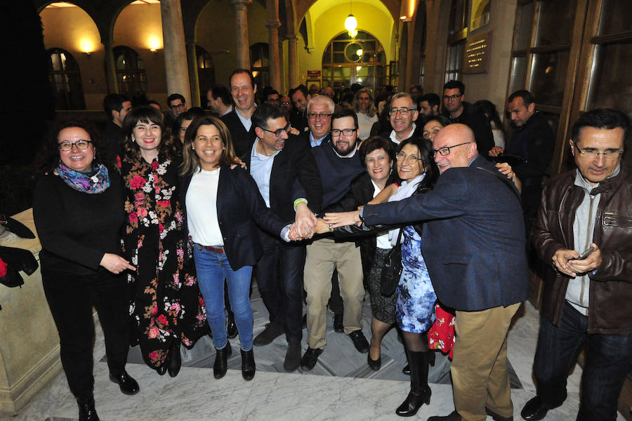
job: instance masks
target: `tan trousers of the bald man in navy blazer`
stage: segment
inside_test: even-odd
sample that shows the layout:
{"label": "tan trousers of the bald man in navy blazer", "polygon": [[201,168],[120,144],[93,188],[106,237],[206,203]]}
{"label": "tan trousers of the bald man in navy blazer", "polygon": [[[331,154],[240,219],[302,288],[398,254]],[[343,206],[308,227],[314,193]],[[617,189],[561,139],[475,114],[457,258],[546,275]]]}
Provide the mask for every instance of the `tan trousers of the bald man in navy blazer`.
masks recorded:
{"label": "tan trousers of the bald man in navy blazer", "polygon": [[480,312],[456,312],[450,372],[454,407],[466,421],[485,421],[485,407],[513,416],[507,371],[507,332],[520,302]]}

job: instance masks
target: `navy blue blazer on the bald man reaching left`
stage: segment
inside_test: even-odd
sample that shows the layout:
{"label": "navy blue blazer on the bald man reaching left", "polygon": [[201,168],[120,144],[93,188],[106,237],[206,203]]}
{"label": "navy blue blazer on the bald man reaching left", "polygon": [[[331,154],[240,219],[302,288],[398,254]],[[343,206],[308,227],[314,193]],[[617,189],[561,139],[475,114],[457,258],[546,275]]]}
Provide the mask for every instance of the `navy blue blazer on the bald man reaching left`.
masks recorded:
{"label": "navy blue blazer on the bald man reaching left", "polygon": [[421,253],[435,293],[462,311],[507,307],[526,300],[529,289],[517,190],[477,167],[497,173],[478,156],[469,167],[449,168],[426,194],[362,212],[367,225],[426,221]]}

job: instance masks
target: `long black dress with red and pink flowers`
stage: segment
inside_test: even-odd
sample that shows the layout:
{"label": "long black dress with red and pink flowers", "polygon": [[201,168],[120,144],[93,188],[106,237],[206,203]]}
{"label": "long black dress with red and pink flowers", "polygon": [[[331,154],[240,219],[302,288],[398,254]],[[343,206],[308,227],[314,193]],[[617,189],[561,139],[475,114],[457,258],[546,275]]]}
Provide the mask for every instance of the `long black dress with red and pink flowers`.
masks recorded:
{"label": "long black dress with red and pink flowers", "polygon": [[[152,163],[124,158],[127,214],[124,253],[129,273],[130,316],[143,359],[162,366],[174,340],[187,348],[208,331],[204,300],[187,247],[178,195],[178,163],[159,155]],[[133,338],[135,339],[135,338]]]}

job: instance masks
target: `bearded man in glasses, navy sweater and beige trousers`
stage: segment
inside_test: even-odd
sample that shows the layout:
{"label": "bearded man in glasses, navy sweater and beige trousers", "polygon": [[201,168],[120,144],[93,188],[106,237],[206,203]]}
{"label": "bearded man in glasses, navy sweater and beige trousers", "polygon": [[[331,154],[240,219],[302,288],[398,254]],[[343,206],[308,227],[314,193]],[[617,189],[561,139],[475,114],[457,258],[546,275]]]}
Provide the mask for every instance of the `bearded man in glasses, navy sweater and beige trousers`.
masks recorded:
{"label": "bearded man in glasses, navy sweater and beige trousers", "polygon": [[[319,95],[312,98],[329,97]],[[328,103],[329,103],[328,102]],[[315,112],[315,108],[310,108]],[[327,117],[331,119],[331,116]],[[336,203],[348,192],[351,182],[366,171],[357,152],[357,116],[350,109],[334,114],[331,121],[331,142],[312,148],[322,181],[322,208]],[[320,210],[320,209],[319,209]],[[369,352],[369,342],[362,333],[362,261],[355,242],[336,242],[320,238],[307,246],[303,285],[307,293],[308,349],[303,354],[301,368],[311,370],[327,345],[327,301],[332,293],[334,269],[343,300],[343,332],[349,336],[358,352]],[[334,301],[332,299],[332,301]],[[331,304],[330,304],[331,307]]]}

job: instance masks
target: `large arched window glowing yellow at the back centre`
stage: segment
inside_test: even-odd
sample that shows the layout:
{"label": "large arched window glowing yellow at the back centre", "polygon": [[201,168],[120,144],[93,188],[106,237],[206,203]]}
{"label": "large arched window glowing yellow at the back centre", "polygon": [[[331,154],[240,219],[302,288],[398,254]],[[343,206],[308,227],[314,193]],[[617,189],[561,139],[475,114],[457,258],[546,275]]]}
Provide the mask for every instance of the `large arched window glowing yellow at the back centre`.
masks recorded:
{"label": "large arched window glowing yellow at the back centre", "polygon": [[322,84],[338,88],[360,83],[375,92],[393,83],[397,71],[391,69],[387,79],[386,67],[386,53],[375,36],[360,29],[355,38],[343,32],[329,41],[322,55]]}

